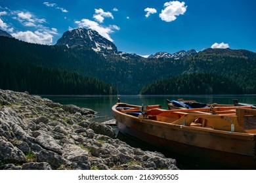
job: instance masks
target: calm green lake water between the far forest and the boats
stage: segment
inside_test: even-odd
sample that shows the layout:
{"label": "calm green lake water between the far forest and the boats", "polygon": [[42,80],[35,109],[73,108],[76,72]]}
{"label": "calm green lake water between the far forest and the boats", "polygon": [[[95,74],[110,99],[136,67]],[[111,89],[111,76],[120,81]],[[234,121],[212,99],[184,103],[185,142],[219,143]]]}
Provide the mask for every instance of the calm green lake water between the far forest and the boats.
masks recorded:
{"label": "calm green lake water between the far forest and the boats", "polygon": [[134,105],[161,105],[167,108],[166,99],[190,99],[201,103],[232,104],[232,99],[240,103],[256,104],[256,95],[42,95],[62,105],[72,104],[78,107],[91,108],[98,112],[95,122],[106,122],[113,119],[112,106],[117,98],[122,103]]}

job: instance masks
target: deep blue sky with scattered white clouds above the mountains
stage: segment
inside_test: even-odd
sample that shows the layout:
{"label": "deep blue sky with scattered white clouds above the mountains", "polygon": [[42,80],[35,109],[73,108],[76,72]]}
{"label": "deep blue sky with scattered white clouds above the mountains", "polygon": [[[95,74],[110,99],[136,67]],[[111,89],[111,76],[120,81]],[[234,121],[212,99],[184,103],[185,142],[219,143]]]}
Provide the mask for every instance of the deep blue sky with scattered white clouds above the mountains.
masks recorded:
{"label": "deep blue sky with scattered white clouds above the mountains", "polygon": [[53,45],[64,32],[85,27],[141,56],[206,48],[256,52],[255,8],[255,0],[0,0],[0,29]]}

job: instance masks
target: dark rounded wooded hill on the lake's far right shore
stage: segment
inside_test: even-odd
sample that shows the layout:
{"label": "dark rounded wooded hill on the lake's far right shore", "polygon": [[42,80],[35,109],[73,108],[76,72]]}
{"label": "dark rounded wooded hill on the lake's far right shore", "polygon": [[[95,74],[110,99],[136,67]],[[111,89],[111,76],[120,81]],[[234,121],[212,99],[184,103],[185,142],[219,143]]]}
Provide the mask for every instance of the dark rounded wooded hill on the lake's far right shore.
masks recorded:
{"label": "dark rounded wooded hill on the lake's far right shore", "polygon": [[142,88],[142,95],[175,94],[241,94],[244,93],[235,82],[214,73],[191,73],[158,80]]}

